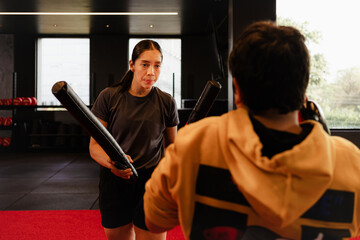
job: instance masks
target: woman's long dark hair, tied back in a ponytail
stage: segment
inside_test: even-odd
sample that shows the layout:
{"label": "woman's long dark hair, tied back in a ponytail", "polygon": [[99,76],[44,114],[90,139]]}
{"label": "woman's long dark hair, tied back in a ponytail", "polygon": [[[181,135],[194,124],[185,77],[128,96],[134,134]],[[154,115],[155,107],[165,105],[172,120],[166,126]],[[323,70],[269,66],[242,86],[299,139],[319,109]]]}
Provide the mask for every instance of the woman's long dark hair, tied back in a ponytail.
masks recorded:
{"label": "woman's long dark hair, tied back in a ponytail", "polygon": [[[142,40],[138,42],[133,49],[131,55],[132,62],[135,64],[136,59],[138,59],[138,57],[147,50],[158,50],[161,54],[161,61],[163,60],[161,47],[157,42],[153,40]],[[121,86],[119,89],[120,92],[126,92],[131,87],[133,77],[134,73],[131,71],[131,69],[129,69],[122,77],[122,79],[119,82],[115,83],[112,87]]]}

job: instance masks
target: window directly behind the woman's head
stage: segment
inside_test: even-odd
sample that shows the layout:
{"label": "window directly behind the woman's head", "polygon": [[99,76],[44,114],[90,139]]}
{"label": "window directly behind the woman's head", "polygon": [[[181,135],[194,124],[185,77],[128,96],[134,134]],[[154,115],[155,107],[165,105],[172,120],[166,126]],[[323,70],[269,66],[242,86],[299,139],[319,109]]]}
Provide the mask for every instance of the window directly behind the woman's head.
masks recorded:
{"label": "window directly behind the woman's head", "polygon": [[[139,38],[129,40],[129,59],[135,45],[141,41]],[[164,56],[161,72],[156,86],[162,91],[171,94],[178,108],[181,106],[181,40],[158,38],[152,39],[159,43]]]}

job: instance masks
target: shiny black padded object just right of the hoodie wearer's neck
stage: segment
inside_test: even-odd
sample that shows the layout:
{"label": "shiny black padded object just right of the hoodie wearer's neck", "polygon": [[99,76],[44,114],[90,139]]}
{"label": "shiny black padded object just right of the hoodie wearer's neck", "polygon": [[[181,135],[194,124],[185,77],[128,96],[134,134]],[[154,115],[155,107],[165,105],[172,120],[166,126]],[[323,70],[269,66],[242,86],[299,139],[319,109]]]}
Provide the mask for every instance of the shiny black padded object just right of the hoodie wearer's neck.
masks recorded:
{"label": "shiny black padded object just right of the hoodie wearer's neck", "polygon": [[304,120],[310,119],[310,120],[318,121],[319,123],[321,123],[324,130],[328,134],[331,134],[330,129],[328,128],[328,126],[326,124],[326,119],[325,119],[324,113],[323,113],[320,105],[317,104],[316,102],[314,102],[312,100],[307,100],[306,103],[304,104],[304,106],[300,109],[300,115],[301,115],[301,118]]}

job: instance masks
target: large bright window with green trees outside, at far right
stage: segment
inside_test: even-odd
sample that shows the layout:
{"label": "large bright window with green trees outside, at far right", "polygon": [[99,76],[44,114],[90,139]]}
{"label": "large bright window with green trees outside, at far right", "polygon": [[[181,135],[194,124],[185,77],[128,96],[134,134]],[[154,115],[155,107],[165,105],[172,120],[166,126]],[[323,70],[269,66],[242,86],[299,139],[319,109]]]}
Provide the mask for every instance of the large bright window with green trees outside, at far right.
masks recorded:
{"label": "large bright window with green trees outside, at far right", "polygon": [[332,129],[360,128],[358,0],[277,0],[277,21],[307,38],[311,54],[309,99]]}

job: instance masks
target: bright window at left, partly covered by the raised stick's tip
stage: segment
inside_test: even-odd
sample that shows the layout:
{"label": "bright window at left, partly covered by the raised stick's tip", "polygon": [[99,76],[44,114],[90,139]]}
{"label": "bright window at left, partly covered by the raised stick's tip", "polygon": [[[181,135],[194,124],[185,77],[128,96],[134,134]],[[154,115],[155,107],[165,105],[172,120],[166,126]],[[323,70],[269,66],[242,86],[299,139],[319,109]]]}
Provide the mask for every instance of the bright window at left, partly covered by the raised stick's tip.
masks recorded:
{"label": "bright window at left, partly covered by the raised stick's tip", "polygon": [[58,81],[66,81],[89,105],[89,39],[39,38],[37,47],[38,105],[61,105],[51,92],[52,86]]}

